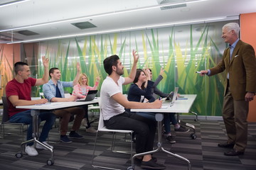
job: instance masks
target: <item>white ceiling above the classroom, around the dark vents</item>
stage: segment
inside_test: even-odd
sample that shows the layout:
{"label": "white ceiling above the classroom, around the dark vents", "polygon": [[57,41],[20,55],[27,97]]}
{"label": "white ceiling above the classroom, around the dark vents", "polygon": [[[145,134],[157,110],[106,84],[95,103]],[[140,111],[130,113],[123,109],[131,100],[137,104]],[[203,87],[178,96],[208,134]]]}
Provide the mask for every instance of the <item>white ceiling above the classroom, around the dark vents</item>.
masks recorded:
{"label": "white ceiling above the classroom, around the dark vents", "polygon": [[[65,35],[118,32],[130,28],[142,29],[151,28],[151,26],[154,28],[158,24],[204,21],[216,17],[228,16],[229,19],[236,16],[238,18],[240,13],[256,12],[255,0],[197,0],[198,2],[193,4],[190,4],[190,2],[195,0],[165,1],[169,5],[186,2],[186,6],[161,10],[159,7],[161,0],[31,0],[0,7],[0,33],[6,36],[13,35],[13,38],[21,40],[35,40],[53,36],[61,38]],[[144,9],[152,6],[157,8]],[[144,10],[134,11],[136,9]],[[120,11],[125,13],[118,13]],[[75,21],[18,29],[30,30],[38,33],[38,35],[21,35],[16,33],[18,30],[2,31],[86,16],[87,18]],[[81,30],[70,24],[78,22],[90,22],[97,27]],[[6,42],[8,41],[0,40],[0,43]]]}

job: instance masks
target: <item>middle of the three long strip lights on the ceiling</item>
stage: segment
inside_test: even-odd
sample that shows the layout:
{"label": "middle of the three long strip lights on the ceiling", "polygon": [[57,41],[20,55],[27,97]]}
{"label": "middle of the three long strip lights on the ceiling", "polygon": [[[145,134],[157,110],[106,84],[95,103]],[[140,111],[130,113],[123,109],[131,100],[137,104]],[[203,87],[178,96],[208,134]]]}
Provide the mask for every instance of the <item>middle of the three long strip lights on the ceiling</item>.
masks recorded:
{"label": "middle of the three long strip lights on the ceiling", "polygon": [[9,31],[9,30],[19,30],[19,29],[25,29],[25,28],[33,28],[33,27],[38,27],[38,26],[46,26],[46,25],[50,25],[53,23],[65,23],[65,22],[70,22],[70,21],[77,21],[77,20],[81,20],[81,19],[91,19],[91,18],[96,18],[96,17],[101,17],[101,16],[110,16],[110,15],[117,15],[120,13],[130,13],[130,12],[134,12],[134,11],[143,11],[143,10],[149,10],[152,8],[161,8],[164,6],[173,6],[173,5],[180,5],[180,4],[191,4],[191,3],[196,3],[196,2],[201,2],[201,1],[209,1],[209,0],[191,0],[191,1],[184,1],[184,2],[179,2],[179,3],[167,3],[167,4],[161,4],[161,5],[155,5],[155,6],[146,6],[146,7],[142,7],[142,8],[133,8],[133,9],[127,9],[127,10],[120,10],[120,11],[112,11],[112,12],[108,12],[108,13],[100,13],[100,14],[96,14],[96,15],[92,15],[92,16],[82,16],[82,17],[78,17],[78,18],[70,18],[70,19],[66,19],[66,20],[61,20],[61,21],[53,21],[53,22],[48,22],[48,23],[38,23],[38,24],[34,24],[34,25],[30,25],[30,26],[21,26],[21,27],[17,27],[17,28],[10,28],[10,29],[6,29],[6,30],[0,30],[1,32],[4,31]]}

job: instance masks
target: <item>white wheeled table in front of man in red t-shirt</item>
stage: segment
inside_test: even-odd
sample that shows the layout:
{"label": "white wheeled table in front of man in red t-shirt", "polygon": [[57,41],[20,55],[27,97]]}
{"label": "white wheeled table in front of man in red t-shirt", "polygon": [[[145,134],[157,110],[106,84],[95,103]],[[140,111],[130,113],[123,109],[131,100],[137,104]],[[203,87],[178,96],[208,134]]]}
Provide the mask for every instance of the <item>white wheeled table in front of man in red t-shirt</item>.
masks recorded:
{"label": "white wheeled table in front of man in red t-shirt", "polygon": [[83,106],[83,105],[98,103],[98,99],[99,98],[95,98],[92,101],[52,102],[52,103],[39,104],[39,105],[16,106],[16,108],[31,109],[31,115],[33,116],[33,139],[21,143],[21,152],[17,153],[16,157],[17,158],[21,158],[23,156],[24,146],[27,143],[29,143],[29,142],[36,142],[39,145],[42,145],[46,149],[50,150],[51,158],[47,160],[47,164],[48,165],[53,165],[54,164],[53,149],[51,149],[50,147],[44,145],[42,142],[37,140],[38,137],[39,137],[39,132],[38,132],[38,115],[40,114],[40,111],[41,110],[53,111],[53,110],[61,109],[61,108],[69,108],[69,107]]}

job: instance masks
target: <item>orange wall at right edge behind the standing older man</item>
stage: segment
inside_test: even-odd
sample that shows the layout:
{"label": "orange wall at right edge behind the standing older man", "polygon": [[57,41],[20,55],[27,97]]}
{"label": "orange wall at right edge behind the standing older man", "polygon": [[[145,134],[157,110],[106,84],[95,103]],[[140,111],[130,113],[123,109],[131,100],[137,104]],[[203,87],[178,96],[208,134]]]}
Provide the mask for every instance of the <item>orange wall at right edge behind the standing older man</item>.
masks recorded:
{"label": "orange wall at right edge behind the standing older man", "polygon": [[[241,40],[252,45],[256,50],[256,13],[245,13],[240,15]],[[256,96],[250,101],[249,122],[256,122]]]}

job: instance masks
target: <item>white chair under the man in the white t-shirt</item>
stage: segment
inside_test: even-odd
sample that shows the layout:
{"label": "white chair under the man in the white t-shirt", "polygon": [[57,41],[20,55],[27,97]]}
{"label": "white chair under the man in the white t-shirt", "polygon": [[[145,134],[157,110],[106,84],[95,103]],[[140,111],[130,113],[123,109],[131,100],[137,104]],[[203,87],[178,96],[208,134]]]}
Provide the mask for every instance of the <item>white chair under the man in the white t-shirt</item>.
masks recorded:
{"label": "white chair under the man in the white t-shirt", "polygon": [[[99,106],[100,106],[100,100],[99,100]],[[111,168],[111,167],[107,167],[107,166],[97,166],[95,164],[93,164],[94,162],[94,159],[95,159],[95,148],[96,148],[96,143],[97,143],[97,135],[99,132],[112,132],[113,133],[113,137],[112,137],[112,146],[111,146],[111,151],[112,152],[118,152],[118,153],[124,153],[124,154],[131,154],[131,158],[132,158],[132,133],[133,131],[132,130],[110,130],[110,129],[107,129],[104,125],[104,121],[103,121],[103,116],[102,116],[102,111],[100,109],[100,119],[99,119],[99,125],[98,125],[98,128],[97,128],[97,132],[96,132],[96,137],[95,137],[95,145],[94,145],[94,148],[93,148],[93,154],[92,154],[92,166],[95,167],[95,168],[102,168],[102,169],[114,169],[114,168]],[[130,152],[127,152],[127,151],[117,151],[117,150],[114,150],[114,145],[115,145],[115,140],[116,140],[116,133],[119,132],[119,133],[129,133],[131,134],[131,151]]]}

